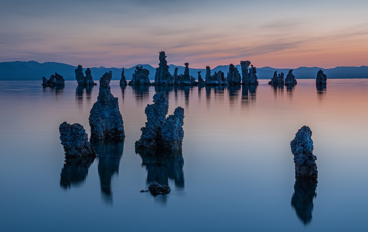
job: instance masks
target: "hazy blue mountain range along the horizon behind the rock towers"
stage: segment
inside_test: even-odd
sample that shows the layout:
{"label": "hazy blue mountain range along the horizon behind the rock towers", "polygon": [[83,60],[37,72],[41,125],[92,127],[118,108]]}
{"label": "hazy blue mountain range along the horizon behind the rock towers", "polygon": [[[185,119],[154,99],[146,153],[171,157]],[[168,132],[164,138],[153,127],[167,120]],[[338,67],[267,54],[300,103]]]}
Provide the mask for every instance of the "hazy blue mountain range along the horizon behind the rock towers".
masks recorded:
{"label": "hazy blue mountain range along the horizon behind the rock towers", "polygon": [[[136,66],[143,66],[145,69],[149,70],[149,78],[151,80],[155,79],[156,68],[151,65],[135,65],[128,69],[124,68],[124,76],[127,80],[131,80],[132,74],[134,73]],[[175,66],[169,65],[170,73],[174,74],[174,69],[178,67],[178,74],[184,73],[184,66]],[[240,65],[236,65],[239,72],[241,73]],[[49,78],[50,75],[54,75],[55,72],[59,73],[64,77],[65,80],[71,81],[75,80],[74,69],[76,66],[66,65],[63,63],[56,62],[45,62],[38,63],[36,61],[15,61],[15,62],[1,62],[0,63],[0,81],[21,81],[21,80],[39,80],[42,81],[42,77]],[[86,70],[87,67],[83,69]],[[106,68],[106,67],[93,67],[91,69],[91,74],[93,80],[99,80],[100,77],[108,71],[113,72],[112,80],[120,80],[121,71],[123,69],[119,68]],[[368,78],[368,67],[360,66],[360,67],[336,67],[333,69],[323,69],[319,67],[299,67],[294,69],[293,74],[297,79],[314,79],[316,78],[317,72],[319,69],[322,69],[323,72],[327,75],[327,78]],[[223,71],[225,76],[227,71],[229,71],[229,66],[220,65],[213,69],[211,69],[211,74],[214,74],[215,71]],[[202,71],[202,78],[206,76],[206,69],[189,69],[189,73],[191,76],[198,79],[198,71]],[[286,74],[289,72],[289,69],[274,69],[272,67],[261,67],[257,68],[257,77],[258,79],[271,79],[273,73],[277,71],[277,73],[283,72]]]}

